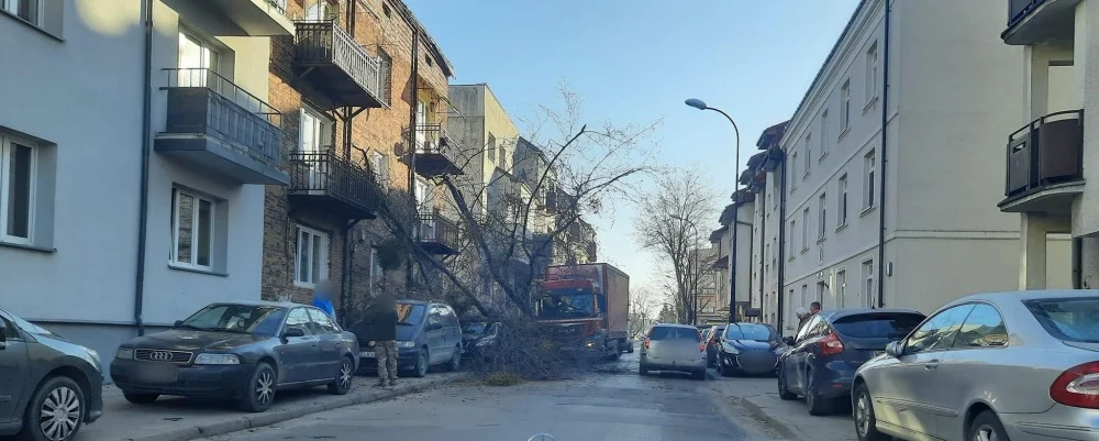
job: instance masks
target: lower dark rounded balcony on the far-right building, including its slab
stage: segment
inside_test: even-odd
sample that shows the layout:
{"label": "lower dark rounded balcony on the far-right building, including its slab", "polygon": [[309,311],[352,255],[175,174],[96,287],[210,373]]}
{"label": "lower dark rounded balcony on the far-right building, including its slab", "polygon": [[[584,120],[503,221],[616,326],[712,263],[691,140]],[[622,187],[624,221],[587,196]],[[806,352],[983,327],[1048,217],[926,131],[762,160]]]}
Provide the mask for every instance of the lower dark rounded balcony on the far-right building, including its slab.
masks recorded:
{"label": "lower dark rounded balcony on the far-right building, including its slab", "polygon": [[1000,211],[1065,211],[1084,190],[1084,111],[1039,118],[1008,136]]}

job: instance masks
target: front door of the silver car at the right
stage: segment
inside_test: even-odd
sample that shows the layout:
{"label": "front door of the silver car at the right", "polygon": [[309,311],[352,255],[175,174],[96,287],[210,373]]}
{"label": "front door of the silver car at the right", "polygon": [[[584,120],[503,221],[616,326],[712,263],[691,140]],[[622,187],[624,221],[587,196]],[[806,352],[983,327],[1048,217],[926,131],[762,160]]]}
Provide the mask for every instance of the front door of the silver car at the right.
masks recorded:
{"label": "front door of the silver car at the right", "polygon": [[958,305],[924,321],[906,340],[898,363],[872,379],[878,388],[872,395],[887,408],[882,421],[934,437],[947,414],[935,405],[934,396],[942,394],[944,384],[937,370],[972,309],[973,305]]}

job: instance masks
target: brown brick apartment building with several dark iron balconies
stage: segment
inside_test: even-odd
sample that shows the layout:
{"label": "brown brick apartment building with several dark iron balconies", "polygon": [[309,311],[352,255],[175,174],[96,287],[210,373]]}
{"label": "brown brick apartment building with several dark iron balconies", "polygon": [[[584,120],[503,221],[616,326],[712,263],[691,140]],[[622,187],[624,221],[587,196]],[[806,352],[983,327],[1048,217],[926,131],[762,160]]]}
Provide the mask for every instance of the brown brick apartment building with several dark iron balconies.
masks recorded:
{"label": "brown brick apartment building with several dark iron balconies", "polygon": [[266,192],[263,296],[309,301],[330,280],[343,321],[384,285],[432,288],[407,238],[414,256],[458,252],[434,180],[462,173],[444,129],[453,67],[400,0],[281,4],[295,33],[274,38],[267,79],[290,179]]}

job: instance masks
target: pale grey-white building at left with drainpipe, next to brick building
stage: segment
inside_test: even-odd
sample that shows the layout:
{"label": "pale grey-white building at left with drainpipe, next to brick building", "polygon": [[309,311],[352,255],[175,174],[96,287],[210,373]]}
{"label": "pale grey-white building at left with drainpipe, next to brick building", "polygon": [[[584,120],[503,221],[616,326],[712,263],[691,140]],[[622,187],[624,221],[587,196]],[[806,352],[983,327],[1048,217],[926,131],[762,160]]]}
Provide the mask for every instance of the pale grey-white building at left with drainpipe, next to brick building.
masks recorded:
{"label": "pale grey-white building at left with drainpipe, next to brick building", "polygon": [[289,181],[269,36],[289,19],[264,0],[0,5],[18,60],[0,73],[0,307],[109,357],[140,327],[259,299],[264,185]]}

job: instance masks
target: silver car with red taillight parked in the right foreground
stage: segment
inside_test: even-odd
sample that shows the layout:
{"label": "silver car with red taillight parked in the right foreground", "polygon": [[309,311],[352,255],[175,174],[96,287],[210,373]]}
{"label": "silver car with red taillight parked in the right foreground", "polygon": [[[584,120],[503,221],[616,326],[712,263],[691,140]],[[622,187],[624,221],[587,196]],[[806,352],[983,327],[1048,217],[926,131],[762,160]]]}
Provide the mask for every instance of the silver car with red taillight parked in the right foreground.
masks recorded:
{"label": "silver car with red taillight parked in the right foreground", "polygon": [[861,440],[1095,440],[1099,290],[980,294],[855,374]]}

